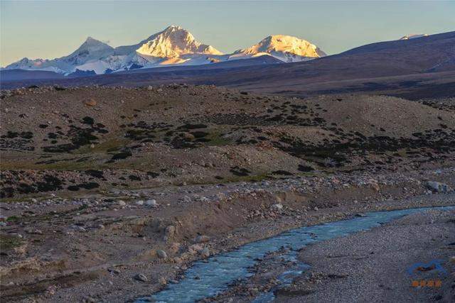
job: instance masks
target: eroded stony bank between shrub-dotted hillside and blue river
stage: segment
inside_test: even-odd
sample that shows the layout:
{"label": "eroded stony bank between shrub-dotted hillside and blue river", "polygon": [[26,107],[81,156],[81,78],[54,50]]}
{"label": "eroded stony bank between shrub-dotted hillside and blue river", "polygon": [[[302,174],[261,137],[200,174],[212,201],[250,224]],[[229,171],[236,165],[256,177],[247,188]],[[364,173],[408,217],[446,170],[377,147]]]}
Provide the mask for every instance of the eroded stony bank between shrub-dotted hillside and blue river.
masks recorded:
{"label": "eroded stony bank between shrub-dotted hillside and blue river", "polygon": [[454,204],[452,194],[430,194],[426,183],[454,184],[453,170],[374,179],[364,173],[334,174],[2,203],[7,218],[1,236],[9,240],[1,264],[2,292],[12,302],[134,300],[181,280],[195,260],[290,228],[364,211]]}

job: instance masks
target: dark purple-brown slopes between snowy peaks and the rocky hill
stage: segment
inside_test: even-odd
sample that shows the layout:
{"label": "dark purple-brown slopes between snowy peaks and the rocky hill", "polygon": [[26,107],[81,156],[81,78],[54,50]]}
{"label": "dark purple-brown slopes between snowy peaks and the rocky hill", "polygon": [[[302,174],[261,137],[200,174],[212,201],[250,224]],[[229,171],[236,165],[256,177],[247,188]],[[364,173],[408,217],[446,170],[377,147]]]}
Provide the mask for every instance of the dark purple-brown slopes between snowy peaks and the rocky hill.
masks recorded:
{"label": "dark purple-brown slopes between snowy peaks and the rocky hill", "polygon": [[[265,52],[269,53],[264,55]],[[33,85],[140,87],[186,83],[292,97],[346,92],[374,92],[410,99],[455,96],[455,32],[371,43],[337,55],[288,64],[282,64],[273,56],[272,48],[261,43],[230,56],[235,55],[245,59],[205,65],[159,65],[162,67],[90,77],[42,70],[1,70],[0,84],[11,89]]]}

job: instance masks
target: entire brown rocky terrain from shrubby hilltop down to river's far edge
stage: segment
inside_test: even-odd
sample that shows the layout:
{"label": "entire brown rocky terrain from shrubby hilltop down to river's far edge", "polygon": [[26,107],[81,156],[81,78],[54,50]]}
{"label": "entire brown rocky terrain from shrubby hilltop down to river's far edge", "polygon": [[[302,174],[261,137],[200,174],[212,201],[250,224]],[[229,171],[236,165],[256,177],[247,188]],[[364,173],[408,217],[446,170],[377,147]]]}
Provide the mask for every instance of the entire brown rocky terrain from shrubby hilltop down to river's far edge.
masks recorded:
{"label": "entire brown rocky terrain from shrubby hilltop down to river's far edge", "polygon": [[435,198],[455,184],[454,111],[435,104],[184,84],[2,91],[2,297],[124,302],[289,228],[455,204]]}

